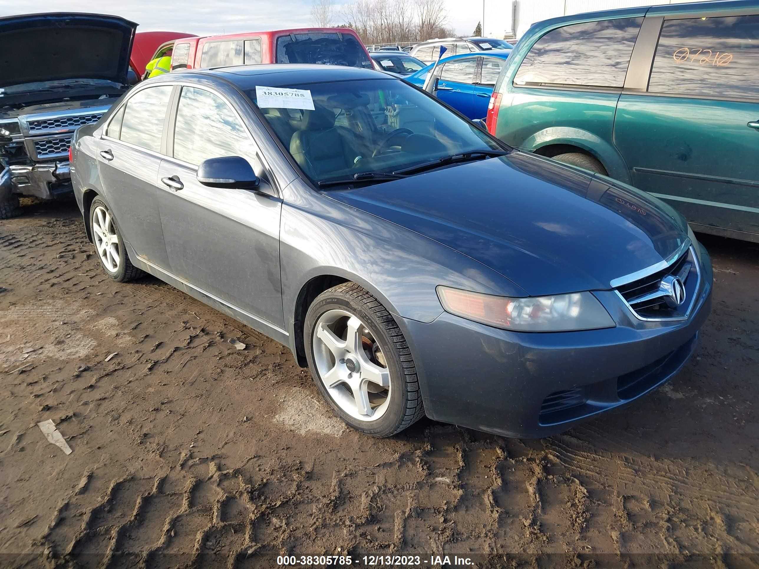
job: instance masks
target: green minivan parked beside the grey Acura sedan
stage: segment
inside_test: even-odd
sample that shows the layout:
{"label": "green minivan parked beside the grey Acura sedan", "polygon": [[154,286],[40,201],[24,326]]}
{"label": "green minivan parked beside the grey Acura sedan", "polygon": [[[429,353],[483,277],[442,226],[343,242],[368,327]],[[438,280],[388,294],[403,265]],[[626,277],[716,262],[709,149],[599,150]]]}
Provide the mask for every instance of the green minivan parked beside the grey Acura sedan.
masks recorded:
{"label": "green minivan parked beside the grey Acura sedan", "polygon": [[534,24],[496,83],[487,127],[653,193],[694,231],[759,242],[759,0]]}

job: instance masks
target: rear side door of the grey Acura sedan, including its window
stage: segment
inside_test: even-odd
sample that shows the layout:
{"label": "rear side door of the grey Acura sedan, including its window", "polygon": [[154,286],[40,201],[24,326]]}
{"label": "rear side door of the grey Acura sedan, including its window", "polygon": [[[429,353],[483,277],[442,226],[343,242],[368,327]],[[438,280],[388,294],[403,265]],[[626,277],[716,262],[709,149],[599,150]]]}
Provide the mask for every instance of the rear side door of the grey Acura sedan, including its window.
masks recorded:
{"label": "rear side door of the grey Acura sedan, including its window", "polygon": [[158,207],[159,165],[172,85],[137,91],[98,142],[98,171],[121,237],[138,256],[168,269]]}

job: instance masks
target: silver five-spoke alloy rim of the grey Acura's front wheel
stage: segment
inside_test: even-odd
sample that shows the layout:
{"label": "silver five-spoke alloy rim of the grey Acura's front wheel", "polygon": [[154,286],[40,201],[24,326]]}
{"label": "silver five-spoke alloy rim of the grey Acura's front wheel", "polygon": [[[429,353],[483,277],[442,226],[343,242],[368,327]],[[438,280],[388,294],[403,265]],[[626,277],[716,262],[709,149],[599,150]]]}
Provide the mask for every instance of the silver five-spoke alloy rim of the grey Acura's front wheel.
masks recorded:
{"label": "silver five-spoke alloy rim of the grey Acura's front wheel", "polygon": [[375,335],[346,310],[328,310],[313,328],[313,358],[332,400],[354,419],[378,420],[390,401],[390,372]]}

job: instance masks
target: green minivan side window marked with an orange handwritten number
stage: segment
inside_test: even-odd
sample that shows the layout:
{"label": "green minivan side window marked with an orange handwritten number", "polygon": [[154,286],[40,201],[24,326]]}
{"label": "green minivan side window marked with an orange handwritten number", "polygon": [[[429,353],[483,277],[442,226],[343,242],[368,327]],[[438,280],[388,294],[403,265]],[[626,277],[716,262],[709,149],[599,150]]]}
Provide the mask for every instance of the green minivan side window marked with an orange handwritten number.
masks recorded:
{"label": "green minivan side window marked with an orange handwritten number", "polygon": [[650,93],[759,99],[759,15],[665,20]]}

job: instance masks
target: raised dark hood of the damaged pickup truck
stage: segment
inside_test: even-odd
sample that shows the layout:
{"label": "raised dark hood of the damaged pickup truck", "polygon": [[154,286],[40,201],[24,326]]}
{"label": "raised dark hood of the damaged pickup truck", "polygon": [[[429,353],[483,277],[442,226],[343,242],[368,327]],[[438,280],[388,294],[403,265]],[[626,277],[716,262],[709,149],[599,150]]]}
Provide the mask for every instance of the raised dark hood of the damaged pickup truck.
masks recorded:
{"label": "raised dark hood of the damaged pickup truck", "polygon": [[100,14],[0,18],[0,87],[67,79],[127,83],[137,24]]}

